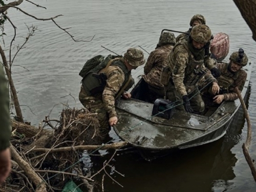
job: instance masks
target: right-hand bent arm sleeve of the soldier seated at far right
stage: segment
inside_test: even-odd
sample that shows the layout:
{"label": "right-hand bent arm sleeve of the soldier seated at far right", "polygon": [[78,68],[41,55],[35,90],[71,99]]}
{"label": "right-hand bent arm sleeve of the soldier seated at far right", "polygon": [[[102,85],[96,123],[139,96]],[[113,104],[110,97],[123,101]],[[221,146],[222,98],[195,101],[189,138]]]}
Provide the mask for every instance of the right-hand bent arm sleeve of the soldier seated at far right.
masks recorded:
{"label": "right-hand bent arm sleeve of the soldier seated at far right", "polygon": [[238,94],[236,92],[234,92],[234,88],[237,87],[238,90],[241,92],[243,90],[246,78],[247,78],[247,73],[245,71],[241,70],[241,74],[239,74],[238,79],[236,81],[234,81],[234,86],[232,86],[232,88],[230,88],[230,93],[223,94],[225,101],[234,101],[234,100],[238,99]]}

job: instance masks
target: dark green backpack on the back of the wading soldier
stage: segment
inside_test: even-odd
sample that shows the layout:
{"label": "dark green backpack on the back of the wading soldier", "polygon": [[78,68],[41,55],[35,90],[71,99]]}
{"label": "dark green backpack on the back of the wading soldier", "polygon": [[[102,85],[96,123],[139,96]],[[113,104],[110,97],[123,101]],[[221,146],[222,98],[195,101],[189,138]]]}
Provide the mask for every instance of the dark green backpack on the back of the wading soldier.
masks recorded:
{"label": "dark green backpack on the back of the wading soldier", "polygon": [[[91,59],[87,60],[84,63],[79,75],[83,78],[85,77],[90,71],[98,72],[99,70],[105,68],[110,60],[115,58],[121,58],[122,56],[118,55],[108,55],[106,58],[102,55],[97,55],[92,57]],[[109,66],[108,66],[109,67]]]}

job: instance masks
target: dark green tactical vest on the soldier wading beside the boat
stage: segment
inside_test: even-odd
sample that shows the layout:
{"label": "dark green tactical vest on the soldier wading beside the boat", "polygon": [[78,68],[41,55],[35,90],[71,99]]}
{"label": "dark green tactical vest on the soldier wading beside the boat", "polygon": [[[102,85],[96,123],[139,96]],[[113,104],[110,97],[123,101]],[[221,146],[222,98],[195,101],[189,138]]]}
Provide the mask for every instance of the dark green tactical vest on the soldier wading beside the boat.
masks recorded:
{"label": "dark green tactical vest on the soldier wading beside the boat", "polygon": [[[123,90],[123,87],[126,86],[126,84],[129,83],[127,81],[129,81],[131,79],[131,72],[128,71],[128,69],[126,68],[124,63],[121,62],[120,60],[114,60],[111,63],[111,66],[118,66],[119,68],[121,68],[121,70],[124,73],[124,81],[123,81],[123,84],[122,84],[121,88],[119,89],[119,92],[120,92],[120,91]],[[97,74],[105,76],[105,74],[102,72],[102,69],[98,70],[98,71],[96,71],[96,70],[98,70],[98,69],[92,69],[86,75],[86,77],[84,77],[83,80],[82,80],[83,89],[86,91],[88,96],[96,95],[98,93],[102,93],[104,88],[105,88],[105,85],[106,85],[106,79],[99,79],[99,78],[97,78],[93,75],[94,73],[97,73]],[[120,95],[119,92],[116,94],[116,96]]]}

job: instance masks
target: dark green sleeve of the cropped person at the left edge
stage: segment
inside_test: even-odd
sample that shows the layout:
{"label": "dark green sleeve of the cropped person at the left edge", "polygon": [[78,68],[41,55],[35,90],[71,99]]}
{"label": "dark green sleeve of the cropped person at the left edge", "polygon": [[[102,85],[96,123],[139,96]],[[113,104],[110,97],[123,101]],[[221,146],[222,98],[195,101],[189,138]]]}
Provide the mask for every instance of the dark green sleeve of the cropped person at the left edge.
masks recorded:
{"label": "dark green sleeve of the cropped person at the left edge", "polygon": [[2,63],[0,64],[0,151],[10,146],[9,92]]}

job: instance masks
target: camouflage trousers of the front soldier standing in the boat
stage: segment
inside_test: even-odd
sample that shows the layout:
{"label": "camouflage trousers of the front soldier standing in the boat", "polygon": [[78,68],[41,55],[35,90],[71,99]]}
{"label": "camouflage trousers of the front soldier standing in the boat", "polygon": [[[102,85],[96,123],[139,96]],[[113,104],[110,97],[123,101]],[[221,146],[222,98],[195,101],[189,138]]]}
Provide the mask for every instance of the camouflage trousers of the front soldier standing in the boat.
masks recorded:
{"label": "camouflage trousers of the front soldier standing in the boat", "polygon": [[[197,86],[189,86],[186,88],[186,91],[188,93],[188,97],[190,98],[190,105],[194,112],[201,113],[205,109],[204,101],[200,95],[200,92],[198,90]],[[176,109],[185,111],[184,105],[183,105],[183,99],[182,96],[178,93],[178,91],[175,89],[174,84],[170,84],[168,88],[165,88],[165,97],[166,99],[175,102]]]}

